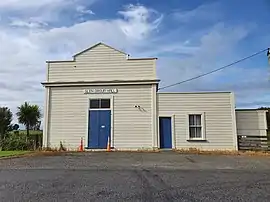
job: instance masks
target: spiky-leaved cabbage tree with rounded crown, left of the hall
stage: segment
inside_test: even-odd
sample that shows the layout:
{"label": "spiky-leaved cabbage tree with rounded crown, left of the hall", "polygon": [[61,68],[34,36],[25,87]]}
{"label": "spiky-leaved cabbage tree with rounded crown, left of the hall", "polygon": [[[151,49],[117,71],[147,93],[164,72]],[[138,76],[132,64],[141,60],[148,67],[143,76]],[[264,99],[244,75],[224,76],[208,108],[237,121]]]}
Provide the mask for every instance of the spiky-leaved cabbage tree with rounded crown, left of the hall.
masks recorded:
{"label": "spiky-leaved cabbage tree with rounded crown, left of the hall", "polygon": [[19,123],[25,125],[28,137],[30,128],[33,128],[38,124],[41,112],[38,105],[31,105],[28,102],[25,102],[18,107],[16,115],[18,116]]}

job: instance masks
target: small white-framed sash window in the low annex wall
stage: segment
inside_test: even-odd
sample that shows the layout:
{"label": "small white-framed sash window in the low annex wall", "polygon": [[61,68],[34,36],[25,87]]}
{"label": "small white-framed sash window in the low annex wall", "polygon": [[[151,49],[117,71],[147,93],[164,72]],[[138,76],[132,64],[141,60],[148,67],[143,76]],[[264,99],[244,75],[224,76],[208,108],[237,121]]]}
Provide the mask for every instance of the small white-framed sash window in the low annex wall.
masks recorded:
{"label": "small white-framed sash window in the low annex wall", "polygon": [[189,138],[202,139],[202,115],[190,114],[189,115]]}

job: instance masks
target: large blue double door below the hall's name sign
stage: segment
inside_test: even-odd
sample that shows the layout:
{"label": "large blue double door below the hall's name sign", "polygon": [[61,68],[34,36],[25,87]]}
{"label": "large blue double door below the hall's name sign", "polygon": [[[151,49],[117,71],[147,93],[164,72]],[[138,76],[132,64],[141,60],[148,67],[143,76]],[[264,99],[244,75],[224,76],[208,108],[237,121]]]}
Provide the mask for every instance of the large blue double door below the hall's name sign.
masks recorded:
{"label": "large blue double door below the hall's name sign", "polygon": [[111,134],[111,110],[89,110],[88,147],[105,149]]}

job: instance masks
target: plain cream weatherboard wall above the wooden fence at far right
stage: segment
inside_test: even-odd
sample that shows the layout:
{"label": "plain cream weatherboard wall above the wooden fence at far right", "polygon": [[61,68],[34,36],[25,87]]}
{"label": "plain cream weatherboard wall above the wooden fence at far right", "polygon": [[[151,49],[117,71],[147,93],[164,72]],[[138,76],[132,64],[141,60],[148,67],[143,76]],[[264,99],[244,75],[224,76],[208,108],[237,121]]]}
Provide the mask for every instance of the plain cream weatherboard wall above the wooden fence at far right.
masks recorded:
{"label": "plain cream weatherboard wall above the wooden fence at far right", "polygon": [[244,136],[266,136],[265,110],[236,110],[237,134]]}

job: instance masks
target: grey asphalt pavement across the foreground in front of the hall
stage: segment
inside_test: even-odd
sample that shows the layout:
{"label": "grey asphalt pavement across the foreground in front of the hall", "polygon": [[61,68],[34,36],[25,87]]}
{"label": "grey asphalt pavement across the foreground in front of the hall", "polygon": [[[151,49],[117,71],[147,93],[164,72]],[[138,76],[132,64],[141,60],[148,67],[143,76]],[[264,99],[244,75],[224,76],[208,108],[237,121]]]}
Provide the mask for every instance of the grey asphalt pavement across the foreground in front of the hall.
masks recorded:
{"label": "grey asphalt pavement across the foreground in front of the hall", "polygon": [[0,201],[270,201],[270,158],[174,152],[0,160]]}

